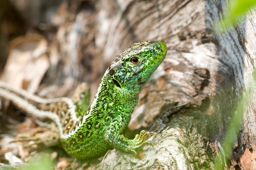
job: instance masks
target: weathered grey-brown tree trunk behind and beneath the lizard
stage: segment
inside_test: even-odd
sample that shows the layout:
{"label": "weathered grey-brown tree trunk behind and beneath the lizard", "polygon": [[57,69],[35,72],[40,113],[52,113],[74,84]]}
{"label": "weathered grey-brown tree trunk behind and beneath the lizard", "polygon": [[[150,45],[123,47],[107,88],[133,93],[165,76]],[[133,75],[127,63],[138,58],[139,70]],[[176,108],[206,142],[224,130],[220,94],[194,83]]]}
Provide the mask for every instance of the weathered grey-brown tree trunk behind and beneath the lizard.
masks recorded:
{"label": "weathered grey-brown tree trunk behind and beneath the lizard", "polygon": [[[233,148],[225,154],[231,153],[231,167],[255,167],[256,86],[251,80],[256,11],[252,9],[228,32],[216,32],[213,23],[226,9],[225,0],[62,3],[55,15],[63,22],[54,26],[57,32],[49,40],[46,84],[71,88],[77,81],[87,81],[94,97],[111,60],[130,44],[162,40],[168,48],[141,92],[128,126],[153,131],[156,135],[148,140],[154,148],[145,146],[143,158],[110,150],[96,169],[213,169],[215,158],[222,154],[220,146],[225,147],[217,143],[222,144],[241,94],[251,100],[244,106],[239,134],[230,138]],[[54,50],[61,56],[58,64],[53,63]]]}

